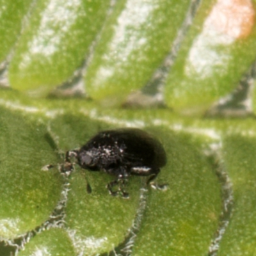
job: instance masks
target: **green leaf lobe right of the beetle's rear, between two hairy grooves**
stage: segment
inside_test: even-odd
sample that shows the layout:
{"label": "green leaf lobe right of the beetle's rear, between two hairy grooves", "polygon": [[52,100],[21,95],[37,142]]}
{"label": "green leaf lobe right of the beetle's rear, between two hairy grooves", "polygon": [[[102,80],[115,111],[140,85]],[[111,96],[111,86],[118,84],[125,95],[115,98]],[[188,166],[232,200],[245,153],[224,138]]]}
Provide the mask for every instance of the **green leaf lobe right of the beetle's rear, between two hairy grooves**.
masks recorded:
{"label": "green leaf lobe right of the beetle's rear, between two hairy grooves", "polygon": [[150,191],[132,255],[204,255],[221,211],[216,173],[200,144],[185,134],[159,132],[168,165],[159,175],[167,191]]}

